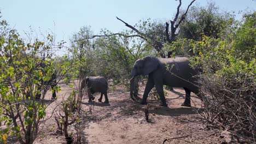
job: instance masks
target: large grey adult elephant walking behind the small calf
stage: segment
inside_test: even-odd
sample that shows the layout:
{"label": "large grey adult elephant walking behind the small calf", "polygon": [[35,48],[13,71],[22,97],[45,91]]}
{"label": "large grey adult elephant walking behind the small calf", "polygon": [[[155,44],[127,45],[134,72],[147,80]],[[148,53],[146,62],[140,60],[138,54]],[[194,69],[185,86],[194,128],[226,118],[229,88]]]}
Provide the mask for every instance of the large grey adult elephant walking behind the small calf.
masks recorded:
{"label": "large grey adult elephant walking behind the small calf", "polygon": [[185,89],[185,101],[182,106],[191,106],[190,92],[200,96],[198,87],[199,69],[193,69],[189,65],[189,59],[184,56],[175,58],[157,58],[147,56],[138,59],[131,70],[130,95],[134,95],[134,78],[137,75],[148,75],[148,82],[140,104],[147,103],[150,90],[155,86],[162,101],[161,106],[167,106],[163,85],[171,87],[183,87]]}

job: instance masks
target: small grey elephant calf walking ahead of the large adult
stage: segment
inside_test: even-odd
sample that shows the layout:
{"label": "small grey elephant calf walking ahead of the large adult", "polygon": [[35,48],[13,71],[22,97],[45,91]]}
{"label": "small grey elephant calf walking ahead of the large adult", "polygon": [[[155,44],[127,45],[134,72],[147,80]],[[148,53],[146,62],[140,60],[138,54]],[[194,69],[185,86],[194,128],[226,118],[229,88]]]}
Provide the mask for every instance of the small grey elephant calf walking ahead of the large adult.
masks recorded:
{"label": "small grey elephant calf walking ahead of the large adult", "polygon": [[89,76],[86,77],[86,79],[82,80],[81,83],[81,89],[83,89],[85,86],[88,88],[88,97],[89,101],[91,102],[95,98],[92,96],[95,92],[100,92],[101,97],[98,99],[98,101],[102,102],[102,96],[104,94],[105,96],[105,101],[104,103],[109,103],[108,102],[108,95],[107,95],[107,90],[108,90],[108,82],[107,80],[102,77],[102,76]]}

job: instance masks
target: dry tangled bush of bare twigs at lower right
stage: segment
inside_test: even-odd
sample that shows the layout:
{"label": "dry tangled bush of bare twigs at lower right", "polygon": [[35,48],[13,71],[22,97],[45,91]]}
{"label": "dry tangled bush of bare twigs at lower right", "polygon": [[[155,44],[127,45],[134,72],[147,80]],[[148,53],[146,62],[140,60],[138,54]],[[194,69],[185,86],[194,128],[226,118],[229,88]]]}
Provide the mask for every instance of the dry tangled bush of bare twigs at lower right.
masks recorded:
{"label": "dry tangled bush of bare twigs at lower right", "polygon": [[207,76],[203,79],[200,115],[229,130],[238,142],[256,142],[256,89],[253,77]]}

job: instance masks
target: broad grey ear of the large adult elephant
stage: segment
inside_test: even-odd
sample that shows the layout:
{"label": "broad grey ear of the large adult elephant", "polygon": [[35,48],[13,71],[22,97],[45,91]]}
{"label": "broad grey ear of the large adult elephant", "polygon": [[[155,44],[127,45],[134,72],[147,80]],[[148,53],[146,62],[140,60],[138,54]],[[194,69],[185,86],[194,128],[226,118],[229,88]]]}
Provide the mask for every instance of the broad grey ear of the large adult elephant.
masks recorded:
{"label": "broad grey ear of the large adult elephant", "polygon": [[143,75],[148,75],[158,68],[159,61],[155,57],[145,57],[143,66]]}

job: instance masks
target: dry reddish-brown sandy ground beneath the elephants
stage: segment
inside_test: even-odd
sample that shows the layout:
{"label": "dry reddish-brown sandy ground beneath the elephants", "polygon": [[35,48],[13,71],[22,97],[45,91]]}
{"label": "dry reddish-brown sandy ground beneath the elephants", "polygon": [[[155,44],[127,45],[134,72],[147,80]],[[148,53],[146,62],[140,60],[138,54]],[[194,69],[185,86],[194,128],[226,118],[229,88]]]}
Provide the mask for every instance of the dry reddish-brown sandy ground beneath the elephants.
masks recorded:
{"label": "dry reddish-brown sandy ground beneath the elephants", "polygon": [[[50,112],[72,91],[65,84],[58,99],[49,100]],[[144,89],[141,88],[141,95]],[[211,129],[199,118],[197,111],[201,101],[192,94],[193,107],[183,107],[184,90],[174,88],[168,91],[168,107],[159,106],[160,101],[148,99],[149,122],[145,119],[145,105],[132,101],[129,92],[118,87],[108,93],[109,104],[95,101],[89,104],[83,100],[83,109],[92,113],[83,119],[82,143],[225,143],[229,135],[225,131]],[[48,95],[50,99],[50,94]],[[96,99],[100,94],[96,94]],[[95,100],[96,100],[95,99]],[[104,100],[104,98],[103,98]],[[71,128],[72,129],[72,128]],[[35,143],[65,143],[63,135],[56,134],[54,118],[46,121]]]}

